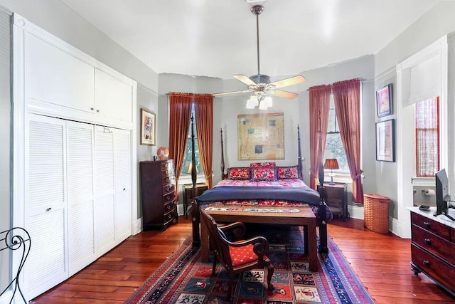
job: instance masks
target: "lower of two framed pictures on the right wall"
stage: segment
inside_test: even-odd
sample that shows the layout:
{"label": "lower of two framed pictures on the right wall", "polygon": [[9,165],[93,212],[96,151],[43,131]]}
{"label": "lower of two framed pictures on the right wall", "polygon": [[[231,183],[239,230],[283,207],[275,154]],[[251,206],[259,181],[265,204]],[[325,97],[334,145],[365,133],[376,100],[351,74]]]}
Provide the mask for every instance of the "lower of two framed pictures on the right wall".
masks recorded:
{"label": "lower of two framed pictures on the right wall", "polygon": [[376,160],[395,162],[395,120],[376,122]]}

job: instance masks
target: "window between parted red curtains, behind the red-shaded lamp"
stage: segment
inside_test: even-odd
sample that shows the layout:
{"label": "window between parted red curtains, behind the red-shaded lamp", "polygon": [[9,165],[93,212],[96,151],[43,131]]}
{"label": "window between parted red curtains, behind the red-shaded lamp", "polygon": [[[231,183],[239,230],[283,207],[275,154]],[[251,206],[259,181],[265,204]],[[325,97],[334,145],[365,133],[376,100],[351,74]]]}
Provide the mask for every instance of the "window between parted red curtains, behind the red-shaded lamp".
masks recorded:
{"label": "window between parted red curtains, behind the red-shaded lamp", "polygon": [[324,159],[336,158],[338,160],[338,166],[340,167],[339,172],[349,172],[348,159],[346,157],[343,143],[341,142],[340,130],[338,129],[338,122],[336,120],[333,94],[330,96],[329,107],[326,150],[324,150]]}

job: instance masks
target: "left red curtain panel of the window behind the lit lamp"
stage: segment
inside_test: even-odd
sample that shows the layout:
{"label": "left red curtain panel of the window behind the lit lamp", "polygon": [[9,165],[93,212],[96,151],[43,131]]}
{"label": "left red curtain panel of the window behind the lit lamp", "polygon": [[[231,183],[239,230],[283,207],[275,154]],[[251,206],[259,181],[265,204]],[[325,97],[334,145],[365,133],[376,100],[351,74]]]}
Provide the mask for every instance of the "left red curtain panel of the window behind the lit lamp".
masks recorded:
{"label": "left red curtain panel of the window behind the lit lamp", "polygon": [[310,187],[317,188],[319,167],[326,148],[330,85],[309,88],[310,103]]}

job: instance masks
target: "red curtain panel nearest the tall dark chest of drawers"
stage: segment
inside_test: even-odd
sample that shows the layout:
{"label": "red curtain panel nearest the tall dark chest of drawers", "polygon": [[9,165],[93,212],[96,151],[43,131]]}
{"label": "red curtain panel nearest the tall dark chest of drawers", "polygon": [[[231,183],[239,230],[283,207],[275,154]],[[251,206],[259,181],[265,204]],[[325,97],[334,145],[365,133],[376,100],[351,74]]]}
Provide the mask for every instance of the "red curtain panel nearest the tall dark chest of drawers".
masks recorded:
{"label": "red curtain panel nearest the tall dark chest of drawers", "polygon": [[169,159],[173,159],[176,174],[176,196],[178,199],[178,177],[185,157],[186,140],[190,130],[193,94],[169,94]]}

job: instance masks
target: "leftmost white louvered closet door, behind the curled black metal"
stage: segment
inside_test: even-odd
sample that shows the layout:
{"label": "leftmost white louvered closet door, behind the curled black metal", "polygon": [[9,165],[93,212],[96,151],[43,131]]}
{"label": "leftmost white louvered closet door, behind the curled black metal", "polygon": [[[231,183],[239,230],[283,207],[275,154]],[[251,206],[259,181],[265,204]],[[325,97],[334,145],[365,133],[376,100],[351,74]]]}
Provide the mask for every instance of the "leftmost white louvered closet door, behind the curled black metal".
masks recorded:
{"label": "leftmost white louvered closet door, behind the curled black metal", "polygon": [[65,120],[30,115],[25,136],[25,228],[32,243],[23,278],[27,298],[34,298],[68,277]]}

